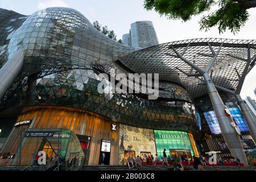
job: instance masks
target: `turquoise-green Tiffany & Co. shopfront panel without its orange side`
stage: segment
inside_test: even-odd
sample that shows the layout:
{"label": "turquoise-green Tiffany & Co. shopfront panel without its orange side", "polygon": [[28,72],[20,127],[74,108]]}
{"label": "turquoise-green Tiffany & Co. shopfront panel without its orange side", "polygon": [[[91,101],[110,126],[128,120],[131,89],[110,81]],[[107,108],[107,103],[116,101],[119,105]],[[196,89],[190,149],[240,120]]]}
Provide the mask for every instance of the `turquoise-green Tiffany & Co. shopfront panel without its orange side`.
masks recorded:
{"label": "turquoise-green Tiffany & Co. shopfront panel without its orange side", "polygon": [[154,133],[156,152],[158,153],[160,159],[163,156],[164,148],[166,149],[167,156],[170,155],[170,151],[181,149],[186,149],[186,151],[190,150],[191,155],[194,155],[191,141],[187,132],[154,130]]}

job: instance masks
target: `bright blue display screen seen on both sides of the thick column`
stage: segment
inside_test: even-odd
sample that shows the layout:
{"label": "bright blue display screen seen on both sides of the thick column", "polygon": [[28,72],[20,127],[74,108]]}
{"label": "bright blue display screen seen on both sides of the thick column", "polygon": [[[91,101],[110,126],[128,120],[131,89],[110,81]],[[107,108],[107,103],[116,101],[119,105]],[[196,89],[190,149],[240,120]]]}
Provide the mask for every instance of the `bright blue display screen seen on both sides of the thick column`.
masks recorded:
{"label": "bright blue display screen seen on both sides of the thick column", "polygon": [[[249,131],[248,126],[245,122],[245,118],[243,118],[243,115],[239,107],[229,108],[229,111],[232,117],[237,122],[238,129],[240,131]],[[210,127],[210,131],[212,132],[212,134],[221,134],[220,125],[218,124],[215,112],[213,110],[205,112],[204,117],[207,120],[207,123]]]}

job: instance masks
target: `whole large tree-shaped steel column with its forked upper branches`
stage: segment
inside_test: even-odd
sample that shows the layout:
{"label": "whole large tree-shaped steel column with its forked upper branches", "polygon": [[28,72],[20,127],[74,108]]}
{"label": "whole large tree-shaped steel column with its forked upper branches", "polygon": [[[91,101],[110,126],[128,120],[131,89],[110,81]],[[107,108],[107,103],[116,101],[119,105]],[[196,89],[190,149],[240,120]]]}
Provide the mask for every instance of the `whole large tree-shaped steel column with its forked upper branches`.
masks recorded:
{"label": "whole large tree-shaped steel column with its forked upper branches", "polygon": [[[210,60],[209,64],[206,68],[200,68],[198,65],[192,63],[191,61],[185,59],[183,57],[185,51],[188,49],[188,46],[184,49],[183,54],[180,55],[179,52],[176,51],[176,49],[171,46],[171,48],[176,53],[177,57],[179,57],[181,60],[183,60],[185,63],[190,65],[193,69],[195,69],[198,73],[200,73],[201,76],[204,77],[204,81],[207,84],[207,89],[210,97],[210,101],[212,102],[213,110],[215,111],[216,117],[218,119],[218,123],[220,125],[221,134],[228,145],[228,148],[231,152],[231,154],[234,157],[237,157],[241,160],[243,164],[246,166],[248,165],[245,152],[243,151],[243,146],[241,142],[240,136],[237,134],[236,129],[231,125],[233,122],[232,118],[225,113],[225,109],[228,110],[228,108],[224,105],[220,95],[218,94],[218,91],[216,90],[212,79],[209,76],[209,72],[212,69],[212,66],[214,62],[217,59],[218,53],[220,53],[221,46],[218,48],[217,52],[215,52],[212,48],[212,46],[208,43],[208,46],[210,48],[210,51],[212,51],[212,59]],[[187,76],[195,76],[195,75],[189,75],[185,74]]]}

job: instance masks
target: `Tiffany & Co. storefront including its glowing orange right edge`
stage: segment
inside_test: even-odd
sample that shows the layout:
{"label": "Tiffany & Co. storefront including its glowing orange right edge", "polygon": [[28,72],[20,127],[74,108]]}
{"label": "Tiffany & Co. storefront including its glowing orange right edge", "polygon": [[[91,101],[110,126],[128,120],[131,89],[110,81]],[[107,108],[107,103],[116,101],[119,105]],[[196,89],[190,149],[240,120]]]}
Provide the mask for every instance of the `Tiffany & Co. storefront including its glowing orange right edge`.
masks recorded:
{"label": "Tiffany & Co. storefront including its glowing orange right edge", "polygon": [[154,130],[156,151],[160,159],[163,157],[163,150],[168,155],[195,155],[198,151],[195,146],[192,134],[184,131]]}

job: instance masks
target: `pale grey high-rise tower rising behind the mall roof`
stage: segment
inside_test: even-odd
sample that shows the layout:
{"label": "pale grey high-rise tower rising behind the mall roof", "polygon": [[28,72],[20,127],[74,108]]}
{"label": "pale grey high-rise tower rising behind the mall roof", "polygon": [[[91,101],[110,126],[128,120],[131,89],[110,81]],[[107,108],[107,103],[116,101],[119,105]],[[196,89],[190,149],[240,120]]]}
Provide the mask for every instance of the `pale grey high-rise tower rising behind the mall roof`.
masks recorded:
{"label": "pale grey high-rise tower rising behind the mall roof", "polygon": [[123,35],[123,44],[134,48],[146,48],[159,44],[153,23],[150,21],[131,23],[130,33]]}

